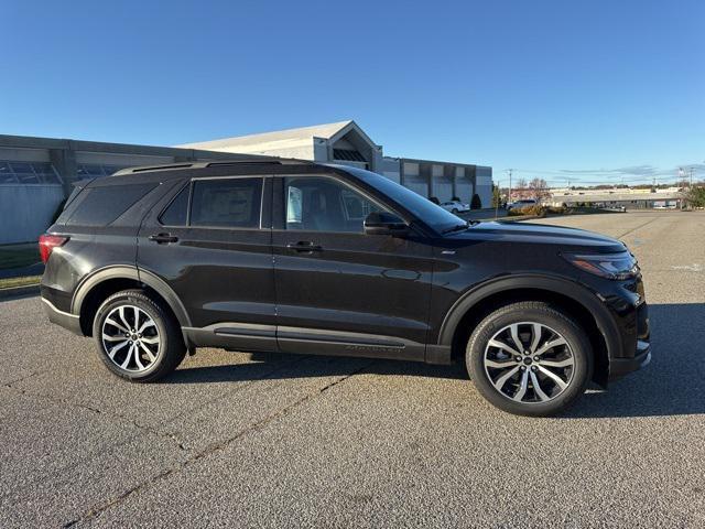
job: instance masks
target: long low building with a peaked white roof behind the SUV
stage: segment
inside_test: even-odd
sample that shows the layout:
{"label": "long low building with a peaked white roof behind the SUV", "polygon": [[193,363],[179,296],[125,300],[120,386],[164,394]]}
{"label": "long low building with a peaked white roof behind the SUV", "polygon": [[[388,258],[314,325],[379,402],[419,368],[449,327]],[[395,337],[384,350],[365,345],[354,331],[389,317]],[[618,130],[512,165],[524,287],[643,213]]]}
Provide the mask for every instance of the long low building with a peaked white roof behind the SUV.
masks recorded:
{"label": "long low building with a peaked white roof behind the SUV", "polygon": [[355,121],[178,147],[0,134],[0,245],[36,240],[78,180],[134,165],[263,154],[368,169],[441,202],[469,203],[478,193],[484,207],[491,203],[491,168],[384,156]]}

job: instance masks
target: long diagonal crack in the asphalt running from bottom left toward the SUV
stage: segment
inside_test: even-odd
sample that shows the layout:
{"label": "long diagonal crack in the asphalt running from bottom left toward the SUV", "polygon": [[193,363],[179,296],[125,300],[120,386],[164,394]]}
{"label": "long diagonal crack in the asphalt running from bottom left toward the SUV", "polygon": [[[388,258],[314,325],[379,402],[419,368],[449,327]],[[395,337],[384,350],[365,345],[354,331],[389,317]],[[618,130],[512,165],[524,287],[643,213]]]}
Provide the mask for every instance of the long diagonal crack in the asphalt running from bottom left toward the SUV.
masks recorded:
{"label": "long diagonal crack in the asphalt running from bottom left toward the SUV", "polygon": [[[69,527],[74,527],[77,523],[83,523],[86,521],[90,521],[94,518],[96,518],[97,516],[99,516],[101,512],[105,512],[106,510],[110,509],[111,507],[115,507],[119,504],[121,504],[122,501],[124,501],[126,499],[128,499],[130,496],[139,493],[140,490],[149,487],[150,485],[153,485],[162,479],[165,479],[166,477],[174,475],[178,472],[183,472],[185,468],[189,467],[191,465],[197,463],[198,461],[208,457],[209,455],[213,455],[217,452],[220,452],[223,450],[225,450],[226,447],[228,447],[229,445],[231,445],[232,443],[235,443],[236,441],[238,441],[239,439],[241,439],[242,436],[247,435],[248,433],[251,432],[256,432],[258,430],[261,430],[262,428],[264,428],[265,425],[268,425],[269,423],[271,423],[272,421],[280,419],[284,415],[286,415],[290,411],[292,411],[294,408],[297,408],[299,406],[307,402],[308,400],[323,395],[325,391],[329,390],[330,388],[338,386],[340,384],[343,384],[344,381],[348,380],[349,378],[354,377],[355,375],[358,375],[359,373],[362,373],[365,369],[367,369],[368,367],[371,367],[372,365],[375,365],[378,360],[372,360],[370,363],[365,364],[362,367],[355,369],[352,371],[350,371],[349,374],[343,376],[343,377],[338,377],[337,379],[333,380],[332,382],[327,384],[326,386],[324,386],[323,388],[313,391],[311,393],[306,393],[304,395],[302,398],[297,399],[296,401],[280,408],[279,410],[275,410],[271,413],[269,413],[268,415],[263,417],[262,419],[260,419],[259,421],[246,427],[245,429],[240,430],[238,433],[236,433],[235,435],[232,435],[231,438],[226,439],[225,441],[220,441],[218,443],[213,443],[208,446],[206,446],[204,450],[195,453],[193,456],[188,457],[187,460],[183,461],[182,463],[178,463],[176,466],[172,467],[172,468],[167,468],[163,472],[160,472],[159,474],[155,474],[154,476],[139,483],[138,485],[135,485],[132,488],[129,488],[127,490],[123,490],[122,493],[120,493],[118,496],[113,497],[112,499],[109,499],[107,501],[104,501],[101,504],[97,504],[94,505],[91,508],[89,508],[88,510],[84,511],[84,514],[82,516],[79,516],[78,518],[75,518],[73,520],[67,521],[66,523],[64,523],[62,527],[64,528],[69,528]],[[264,379],[262,379],[264,380]]]}

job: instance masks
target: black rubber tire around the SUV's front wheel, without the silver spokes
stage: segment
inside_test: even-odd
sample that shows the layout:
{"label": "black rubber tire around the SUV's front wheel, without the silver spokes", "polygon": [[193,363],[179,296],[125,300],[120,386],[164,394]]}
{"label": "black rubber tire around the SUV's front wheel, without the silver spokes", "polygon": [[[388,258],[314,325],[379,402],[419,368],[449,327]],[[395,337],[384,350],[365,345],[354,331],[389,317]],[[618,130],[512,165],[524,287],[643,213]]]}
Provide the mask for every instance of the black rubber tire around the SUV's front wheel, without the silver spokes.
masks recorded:
{"label": "black rubber tire around the SUV's front wheel, without the silver spokes", "polygon": [[[550,334],[547,334],[550,333],[550,331],[557,332],[557,334],[560,334],[567,344],[567,347],[562,346],[562,354],[568,355],[568,357],[571,357],[570,355],[572,354],[573,364],[570,368],[561,371],[563,374],[568,373],[566,377],[568,381],[564,389],[561,389],[549,377],[541,375],[541,377],[543,377],[543,379],[547,381],[550,386],[554,386],[553,391],[555,392],[555,397],[544,393],[543,397],[550,398],[550,400],[546,401],[541,401],[542,399],[539,397],[539,393],[535,389],[533,389],[533,382],[529,382],[529,389],[525,390],[524,395],[527,395],[528,397],[519,397],[520,400],[523,398],[533,400],[527,402],[512,400],[512,396],[505,392],[507,386],[502,386],[500,389],[497,389],[492,384],[492,380],[490,379],[489,373],[491,370],[492,373],[499,374],[499,376],[495,378],[495,381],[499,384],[501,375],[513,370],[513,367],[507,367],[502,368],[503,370],[495,371],[494,368],[486,368],[485,365],[485,353],[486,348],[488,348],[489,341],[507,326],[519,323],[521,323],[522,325],[528,325],[525,322],[543,325],[543,333],[546,333],[544,334],[544,336],[550,336]],[[545,331],[545,327],[549,327],[549,330]],[[527,327],[523,326],[518,328]],[[536,334],[539,336],[542,336],[541,331]],[[524,341],[523,336],[520,335],[520,342]],[[550,341],[551,338],[546,338],[546,342]],[[521,354],[523,355],[524,353],[529,353],[529,347],[530,346],[527,345]],[[539,347],[536,347],[536,349],[539,349]],[[503,352],[503,349],[495,350]],[[549,350],[550,352],[546,353],[546,356],[550,355],[554,349]],[[524,356],[512,356],[511,354],[507,353],[505,353],[505,355],[510,357],[509,359],[505,359],[508,365],[510,361],[517,361],[516,366],[519,369],[522,369],[520,371],[517,371],[516,375],[512,375],[512,377],[508,379],[510,390],[513,388],[517,389],[517,391],[513,393],[513,396],[517,397],[520,388],[520,378],[523,376],[523,371],[525,371],[527,369],[534,370],[534,375],[528,373],[525,378],[528,378],[529,376],[538,377],[542,373],[535,370],[541,369],[541,367],[539,367],[540,363],[534,363],[533,365],[524,365],[524,361],[533,361],[532,358],[535,357],[532,357],[532,354],[528,354],[528,356],[531,357],[529,358],[529,360],[525,360]],[[520,361],[519,358],[521,358],[522,360]],[[545,360],[541,358],[541,361]],[[497,408],[519,415],[547,417],[565,410],[585,392],[585,389],[593,376],[593,350],[590,347],[590,342],[583,328],[564,311],[549,303],[529,301],[512,303],[502,306],[501,309],[492,312],[487,317],[485,317],[475,328],[475,331],[470,335],[470,338],[468,339],[466,349],[466,364],[468,373],[470,375],[470,379],[477,387],[478,391],[482,395],[482,397],[485,397]],[[546,368],[547,367],[544,366],[544,369]],[[553,370],[553,368],[551,368],[551,370]],[[540,387],[542,384],[545,382],[539,381]],[[525,387],[527,386],[524,386],[524,388]]]}

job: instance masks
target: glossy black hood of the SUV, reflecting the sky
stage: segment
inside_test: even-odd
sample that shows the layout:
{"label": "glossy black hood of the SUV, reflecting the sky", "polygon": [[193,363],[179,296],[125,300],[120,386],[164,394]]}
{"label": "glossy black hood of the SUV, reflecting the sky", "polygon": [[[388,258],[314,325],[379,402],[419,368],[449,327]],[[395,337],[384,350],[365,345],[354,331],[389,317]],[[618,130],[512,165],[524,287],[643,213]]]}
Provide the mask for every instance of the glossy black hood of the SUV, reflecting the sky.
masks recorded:
{"label": "glossy black hood of the SUV, reflecting the sky", "polygon": [[615,253],[627,248],[621,241],[606,235],[577,228],[542,224],[480,223],[465,231],[449,234],[448,239],[498,240],[502,242],[555,245],[571,250]]}

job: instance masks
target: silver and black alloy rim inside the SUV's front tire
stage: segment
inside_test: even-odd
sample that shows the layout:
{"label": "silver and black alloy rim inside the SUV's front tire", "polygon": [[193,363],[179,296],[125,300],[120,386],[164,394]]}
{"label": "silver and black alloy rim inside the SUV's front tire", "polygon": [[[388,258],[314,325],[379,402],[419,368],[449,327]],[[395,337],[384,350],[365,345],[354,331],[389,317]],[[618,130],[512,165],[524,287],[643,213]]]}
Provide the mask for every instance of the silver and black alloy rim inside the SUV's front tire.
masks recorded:
{"label": "silver and black alloy rim inside the SUV's front tire", "polygon": [[512,323],[497,332],[485,347],[482,363],[495,389],[521,403],[555,399],[575,371],[575,355],[565,337],[536,322]]}

